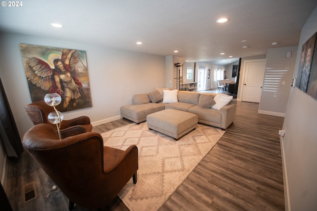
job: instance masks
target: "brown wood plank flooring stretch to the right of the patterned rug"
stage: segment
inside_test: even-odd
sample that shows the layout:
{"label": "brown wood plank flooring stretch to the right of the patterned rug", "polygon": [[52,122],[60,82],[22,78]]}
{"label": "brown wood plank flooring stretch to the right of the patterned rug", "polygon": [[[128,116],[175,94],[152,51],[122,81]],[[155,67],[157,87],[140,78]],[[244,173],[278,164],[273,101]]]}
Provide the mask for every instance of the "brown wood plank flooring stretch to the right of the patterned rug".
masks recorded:
{"label": "brown wood plank flooring stretch to the right of the patterned rug", "polygon": [[224,136],[159,209],[285,210],[278,130],[283,117],[237,102]]}

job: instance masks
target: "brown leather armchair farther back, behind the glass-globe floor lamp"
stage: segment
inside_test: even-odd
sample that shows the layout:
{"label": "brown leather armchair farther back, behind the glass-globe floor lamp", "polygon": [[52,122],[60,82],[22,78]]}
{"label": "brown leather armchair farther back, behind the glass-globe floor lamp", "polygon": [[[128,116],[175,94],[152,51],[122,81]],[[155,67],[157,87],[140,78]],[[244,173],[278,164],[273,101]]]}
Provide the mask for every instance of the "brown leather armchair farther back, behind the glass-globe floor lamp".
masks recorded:
{"label": "brown leather armchair farther back, behind the glass-globe floor lamp", "polygon": [[[33,124],[45,123],[51,125],[56,130],[56,125],[48,120],[48,115],[55,111],[52,106],[48,106],[44,100],[24,106]],[[63,120],[60,125],[62,138],[74,136],[80,133],[91,132],[93,126],[90,124],[88,116],[79,116],[74,119]]]}

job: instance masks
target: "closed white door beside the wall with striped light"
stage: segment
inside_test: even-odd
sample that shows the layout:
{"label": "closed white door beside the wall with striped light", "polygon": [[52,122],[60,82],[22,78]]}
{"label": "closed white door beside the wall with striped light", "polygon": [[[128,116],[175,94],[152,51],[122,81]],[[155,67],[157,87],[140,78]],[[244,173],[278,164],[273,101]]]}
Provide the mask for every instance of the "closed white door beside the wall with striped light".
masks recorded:
{"label": "closed white door beside the wall with striped light", "polygon": [[245,61],[245,74],[242,91],[242,101],[260,103],[264,72],[265,59]]}

